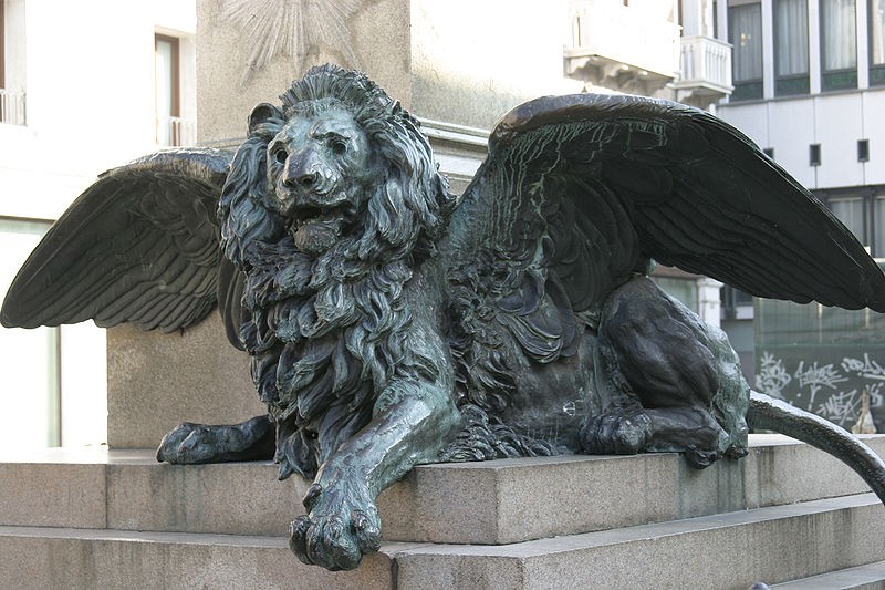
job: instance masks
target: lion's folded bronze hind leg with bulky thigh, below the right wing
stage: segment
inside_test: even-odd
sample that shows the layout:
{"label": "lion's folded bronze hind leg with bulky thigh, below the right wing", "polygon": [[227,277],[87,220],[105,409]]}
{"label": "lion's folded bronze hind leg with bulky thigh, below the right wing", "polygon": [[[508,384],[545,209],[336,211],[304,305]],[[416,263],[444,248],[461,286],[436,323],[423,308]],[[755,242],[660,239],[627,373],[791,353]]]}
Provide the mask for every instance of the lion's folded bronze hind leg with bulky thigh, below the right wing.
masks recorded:
{"label": "lion's folded bronze hind leg with bulky thigh, below the right wing", "polygon": [[694,467],[747,453],[749,387],[737,355],[649,279],[612,293],[600,351],[612,395],[582,428],[585,452],[683,452]]}

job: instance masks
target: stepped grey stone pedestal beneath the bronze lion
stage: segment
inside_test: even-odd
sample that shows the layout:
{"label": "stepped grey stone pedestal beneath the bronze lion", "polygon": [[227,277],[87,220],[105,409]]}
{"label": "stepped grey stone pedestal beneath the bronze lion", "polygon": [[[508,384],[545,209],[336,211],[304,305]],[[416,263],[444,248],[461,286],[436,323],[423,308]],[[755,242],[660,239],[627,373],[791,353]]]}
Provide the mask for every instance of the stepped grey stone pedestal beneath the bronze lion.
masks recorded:
{"label": "stepped grey stone pedestal beneath the bronze lion", "polygon": [[[866,441],[885,451],[885,436]],[[381,551],[350,572],[289,551],[308,483],[278,482],[271,463],[165,465],[150,451],[3,455],[2,588],[746,590],[885,580],[882,504],[847,467],[783,436],[751,435],[748,457],[702,472],[674,454],[419,466],[378,498]]]}

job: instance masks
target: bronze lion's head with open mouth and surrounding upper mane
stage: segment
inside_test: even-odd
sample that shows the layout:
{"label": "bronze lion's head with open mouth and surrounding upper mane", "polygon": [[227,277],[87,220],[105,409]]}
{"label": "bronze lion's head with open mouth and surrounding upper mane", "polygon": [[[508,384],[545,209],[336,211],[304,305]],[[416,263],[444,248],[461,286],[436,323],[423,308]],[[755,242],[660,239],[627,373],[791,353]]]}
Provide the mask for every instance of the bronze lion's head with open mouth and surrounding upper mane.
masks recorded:
{"label": "bronze lion's head with open mouth and surrounding upper mane", "polygon": [[364,74],[311,69],[249,117],[219,214],[225,253],[248,268],[260,245],[361,260],[431,248],[449,195],[419,125]]}

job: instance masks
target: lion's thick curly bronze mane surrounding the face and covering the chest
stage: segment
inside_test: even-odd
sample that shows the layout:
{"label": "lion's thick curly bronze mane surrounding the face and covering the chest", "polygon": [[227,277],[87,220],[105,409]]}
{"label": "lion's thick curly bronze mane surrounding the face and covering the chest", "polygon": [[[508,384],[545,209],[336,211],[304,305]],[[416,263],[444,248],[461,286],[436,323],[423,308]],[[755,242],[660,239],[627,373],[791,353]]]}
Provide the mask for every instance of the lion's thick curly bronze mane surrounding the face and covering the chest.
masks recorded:
{"label": "lion's thick curly bronze mane surrounding the face and covering the chest", "polygon": [[[431,377],[436,361],[405,341],[404,286],[435,256],[451,197],[419,125],[365,75],[314,68],[260,105],[219,204],[225,256],[247,276],[239,337],[252,379],[277,423],[280,477],[316,468],[372,417],[377,393],[398,376]],[[285,123],[333,106],[369,138],[375,178],[364,210],[327,251],[299,251],[273,197],[267,147]]]}

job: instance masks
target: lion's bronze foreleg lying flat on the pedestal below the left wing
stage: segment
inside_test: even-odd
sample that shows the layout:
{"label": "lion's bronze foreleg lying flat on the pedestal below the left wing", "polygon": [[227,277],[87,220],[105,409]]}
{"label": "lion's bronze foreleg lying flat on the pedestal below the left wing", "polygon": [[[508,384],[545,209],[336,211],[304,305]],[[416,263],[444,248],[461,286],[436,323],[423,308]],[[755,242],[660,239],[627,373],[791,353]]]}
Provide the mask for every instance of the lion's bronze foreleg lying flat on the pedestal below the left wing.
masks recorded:
{"label": "lion's bronze foreleg lying flat on the pedestal below the left wing", "polygon": [[163,437],[157,448],[157,460],[192,465],[270,459],[274,439],[275,431],[267,415],[239,424],[183,422]]}

